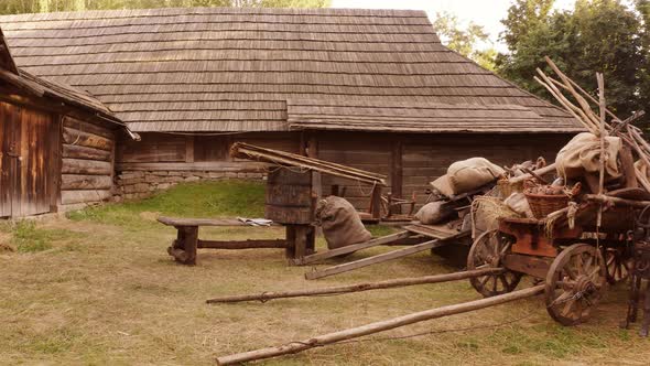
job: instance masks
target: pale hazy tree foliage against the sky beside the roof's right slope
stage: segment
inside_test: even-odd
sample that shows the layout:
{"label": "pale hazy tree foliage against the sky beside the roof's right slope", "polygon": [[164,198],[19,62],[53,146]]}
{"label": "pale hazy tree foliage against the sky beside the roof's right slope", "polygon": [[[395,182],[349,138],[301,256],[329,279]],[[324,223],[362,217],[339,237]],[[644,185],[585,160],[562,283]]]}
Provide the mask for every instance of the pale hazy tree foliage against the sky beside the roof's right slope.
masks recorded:
{"label": "pale hazy tree foliage against the sky beside the roof's right slope", "polygon": [[448,12],[442,12],[436,13],[433,28],[447,47],[474,60],[487,69],[495,69],[497,51],[494,47],[479,49],[480,43],[487,43],[489,37],[489,34],[485,32],[483,26],[469,22],[467,28],[463,29],[459,24],[458,17]]}

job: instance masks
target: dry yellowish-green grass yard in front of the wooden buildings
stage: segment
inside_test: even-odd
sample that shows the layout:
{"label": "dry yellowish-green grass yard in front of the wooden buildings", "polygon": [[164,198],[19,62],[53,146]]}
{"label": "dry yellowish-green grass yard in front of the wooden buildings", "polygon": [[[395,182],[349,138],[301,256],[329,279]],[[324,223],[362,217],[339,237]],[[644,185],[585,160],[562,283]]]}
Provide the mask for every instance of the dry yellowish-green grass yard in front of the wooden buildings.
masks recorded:
{"label": "dry yellowish-green grass yard in front of the wooden buildings", "polygon": [[[310,268],[288,267],[277,249],[199,250],[196,267],[167,256],[175,230],[158,224],[158,215],[259,217],[263,196],[263,185],[256,183],[186,184],[149,200],[72,213],[68,219],[1,224],[0,364],[209,365],[218,355],[478,299],[462,281],[264,304],[205,304],[224,294],[457,270],[423,252],[305,281],[302,274]],[[281,238],[283,232],[208,228],[201,236]],[[322,239],[318,248],[324,248]],[[390,248],[345,260],[383,250]],[[595,317],[577,327],[554,323],[538,298],[264,364],[647,365],[650,341],[618,329],[625,299],[625,286],[610,289]],[[410,337],[418,333],[427,334]]]}

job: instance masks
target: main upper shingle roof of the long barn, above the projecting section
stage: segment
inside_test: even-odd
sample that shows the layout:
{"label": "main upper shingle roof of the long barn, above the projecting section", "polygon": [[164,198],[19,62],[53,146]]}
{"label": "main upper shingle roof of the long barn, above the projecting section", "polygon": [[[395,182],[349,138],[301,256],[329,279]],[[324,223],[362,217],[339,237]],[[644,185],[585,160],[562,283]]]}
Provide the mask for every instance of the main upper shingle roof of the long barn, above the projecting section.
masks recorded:
{"label": "main upper shingle roof of the long barn, above the projecting section", "polygon": [[133,131],[289,130],[296,98],[517,105],[554,131],[579,130],[443,46],[422,11],[119,10],[7,15],[0,26],[20,67],[88,90]]}

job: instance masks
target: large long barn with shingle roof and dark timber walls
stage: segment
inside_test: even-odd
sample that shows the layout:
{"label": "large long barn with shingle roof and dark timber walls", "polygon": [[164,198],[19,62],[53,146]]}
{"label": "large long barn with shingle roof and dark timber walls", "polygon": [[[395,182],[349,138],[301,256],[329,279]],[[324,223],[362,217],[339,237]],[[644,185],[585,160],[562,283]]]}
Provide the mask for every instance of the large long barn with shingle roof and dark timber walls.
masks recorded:
{"label": "large long barn with shingle roof and dark timber walls", "polygon": [[[393,196],[423,202],[454,161],[553,159],[582,131],[445,47],[422,11],[86,11],[6,15],[0,26],[22,69],[87,92],[142,137],[116,136],[128,198],[261,177],[262,165],[228,154],[243,141],[386,174]],[[370,187],[322,184],[367,208]]]}

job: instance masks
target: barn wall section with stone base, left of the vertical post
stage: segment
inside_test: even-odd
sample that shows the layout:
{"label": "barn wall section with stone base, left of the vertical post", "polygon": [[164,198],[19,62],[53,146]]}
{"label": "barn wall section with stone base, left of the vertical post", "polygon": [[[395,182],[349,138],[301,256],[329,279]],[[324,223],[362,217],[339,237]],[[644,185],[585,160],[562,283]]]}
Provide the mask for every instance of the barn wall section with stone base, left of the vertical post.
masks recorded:
{"label": "barn wall section with stone base, left of the vertical post", "polygon": [[230,146],[243,141],[299,152],[299,133],[268,132],[224,136],[141,133],[142,141],[118,136],[117,183],[126,198],[144,197],[181,182],[220,179],[261,180],[264,164],[229,157]]}

